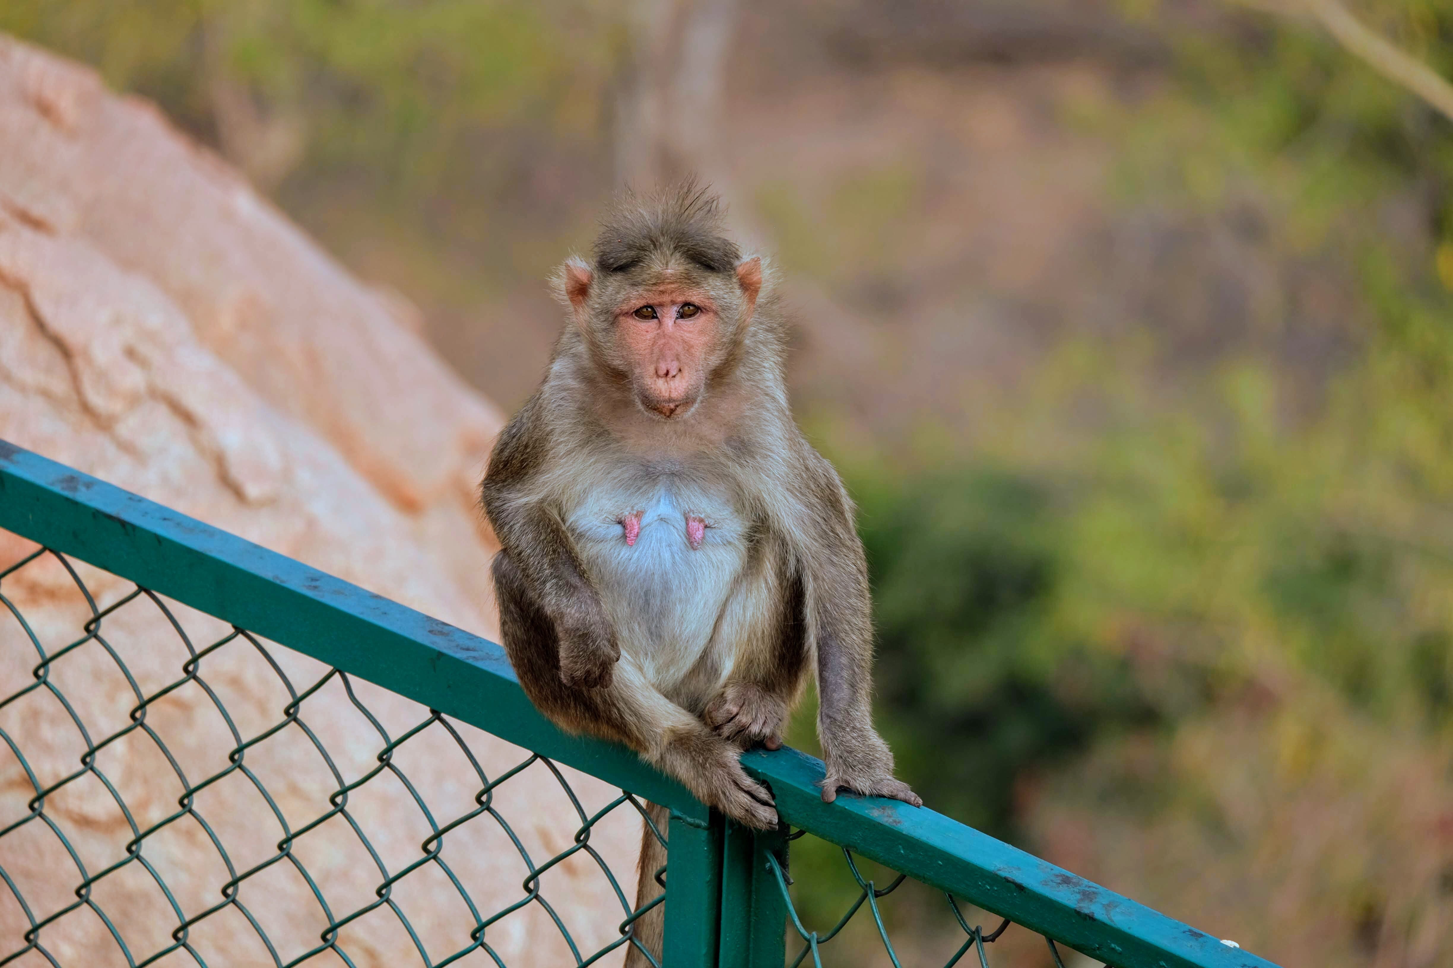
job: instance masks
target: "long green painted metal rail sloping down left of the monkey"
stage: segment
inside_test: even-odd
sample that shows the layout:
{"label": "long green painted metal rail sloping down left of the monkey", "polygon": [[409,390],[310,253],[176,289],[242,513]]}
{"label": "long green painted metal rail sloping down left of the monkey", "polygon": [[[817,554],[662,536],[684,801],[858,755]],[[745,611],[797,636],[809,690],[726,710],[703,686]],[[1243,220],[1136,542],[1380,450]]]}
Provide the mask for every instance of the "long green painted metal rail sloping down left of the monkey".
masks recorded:
{"label": "long green painted metal rail sloping down left of the monkey", "polygon": [[0,527],[706,821],[631,750],[541,715],[500,646],[4,441]]}

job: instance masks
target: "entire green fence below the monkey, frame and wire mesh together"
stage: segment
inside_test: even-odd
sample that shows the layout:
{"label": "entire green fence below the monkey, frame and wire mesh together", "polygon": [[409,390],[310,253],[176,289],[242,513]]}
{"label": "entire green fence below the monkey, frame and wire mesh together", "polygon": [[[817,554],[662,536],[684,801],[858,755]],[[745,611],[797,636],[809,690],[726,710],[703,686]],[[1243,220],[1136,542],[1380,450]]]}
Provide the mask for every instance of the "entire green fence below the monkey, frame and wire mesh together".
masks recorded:
{"label": "entire green fence below the monkey, frame and wire mesh together", "polygon": [[0,527],[0,965],[1273,968],[795,750],[745,830],[497,646],[3,441]]}

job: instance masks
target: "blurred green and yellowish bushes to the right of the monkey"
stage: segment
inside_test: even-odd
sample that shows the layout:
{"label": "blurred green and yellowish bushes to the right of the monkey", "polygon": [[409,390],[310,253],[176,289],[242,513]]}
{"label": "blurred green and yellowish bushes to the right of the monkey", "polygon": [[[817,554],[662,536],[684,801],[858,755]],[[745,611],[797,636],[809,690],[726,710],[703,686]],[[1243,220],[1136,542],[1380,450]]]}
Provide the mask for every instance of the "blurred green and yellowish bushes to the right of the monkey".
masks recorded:
{"label": "blurred green and yellowish bushes to the right of the monkey", "polygon": [[[1453,3],[1359,12],[1453,74]],[[1116,205],[1250,221],[1266,268],[1335,279],[1356,328],[1331,364],[1286,347],[1318,308],[1283,284],[1251,321],[1261,343],[1190,369],[1151,319],[1068,337],[968,453],[933,435],[905,463],[840,438],[876,589],[879,718],[930,805],[1032,849],[1046,775],[1094,819],[1088,855],[1205,837],[1206,882],[1215,853],[1239,866],[1226,910],[1266,911],[1237,938],[1283,964],[1444,964],[1453,853],[1395,801],[1446,804],[1453,775],[1453,125],[1308,23],[1170,36],[1165,83],[1071,119],[1117,147]],[[809,743],[808,724],[790,739]],[[1356,805],[1402,750],[1427,756],[1420,779]],[[1225,787],[1252,763],[1242,779],[1289,811],[1321,789],[1290,833],[1356,824],[1366,856],[1335,875],[1299,861],[1338,885],[1316,945],[1273,913],[1292,843],[1238,829],[1251,791]],[[840,865],[799,853],[815,877]],[[1258,862],[1276,866],[1264,885]],[[1173,913],[1212,917],[1200,891]],[[825,920],[851,895],[805,903]]]}

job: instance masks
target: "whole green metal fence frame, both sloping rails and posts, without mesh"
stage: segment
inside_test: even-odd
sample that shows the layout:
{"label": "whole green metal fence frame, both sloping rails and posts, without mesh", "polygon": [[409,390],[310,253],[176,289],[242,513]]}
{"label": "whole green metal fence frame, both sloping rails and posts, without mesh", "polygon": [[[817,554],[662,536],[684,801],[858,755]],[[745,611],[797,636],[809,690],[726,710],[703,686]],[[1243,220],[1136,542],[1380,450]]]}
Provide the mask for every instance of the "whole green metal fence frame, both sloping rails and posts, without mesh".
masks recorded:
{"label": "whole green metal fence frame, both sloping rails and posts, without mesh", "polygon": [[[562,733],[529,704],[494,643],[4,441],[0,528],[670,807],[667,878],[679,877],[665,907],[667,968],[782,964],[782,834],[728,824],[629,750]],[[742,763],[792,827],[1107,965],[1274,968],[933,810],[854,797],[824,804],[822,763],[796,750],[754,750]]]}

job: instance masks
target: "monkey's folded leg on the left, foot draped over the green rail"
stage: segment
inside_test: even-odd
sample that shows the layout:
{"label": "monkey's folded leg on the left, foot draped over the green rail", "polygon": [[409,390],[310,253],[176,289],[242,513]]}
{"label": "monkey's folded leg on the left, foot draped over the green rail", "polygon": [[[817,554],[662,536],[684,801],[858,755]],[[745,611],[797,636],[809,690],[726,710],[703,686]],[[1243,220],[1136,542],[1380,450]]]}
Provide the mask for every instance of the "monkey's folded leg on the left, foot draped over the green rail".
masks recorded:
{"label": "monkey's folded leg on the left, foot draped over the green rail", "polygon": [[760,830],[777,824],[772,794],[741,768],[740,750],[661,695],[631,656],[620,656],[610,685],[584,689],[564,684],[555,623],[507,551],[494,557],[494,591],[504,649],[541,713],[568,730],[625,743],[681,781],[697,800],[740,823]]}

